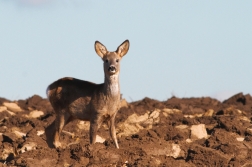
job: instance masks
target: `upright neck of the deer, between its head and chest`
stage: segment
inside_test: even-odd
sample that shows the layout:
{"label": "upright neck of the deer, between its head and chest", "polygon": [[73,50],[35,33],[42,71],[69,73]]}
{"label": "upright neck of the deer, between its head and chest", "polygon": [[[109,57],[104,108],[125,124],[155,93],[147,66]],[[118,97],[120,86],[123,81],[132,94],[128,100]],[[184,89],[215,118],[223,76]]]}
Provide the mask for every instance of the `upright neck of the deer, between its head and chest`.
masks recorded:
{"label": "upright neck of the deer, between its head and chest", "polygon": [[119,74],[105,76],[104,94],[111,97],[120,96]]}

